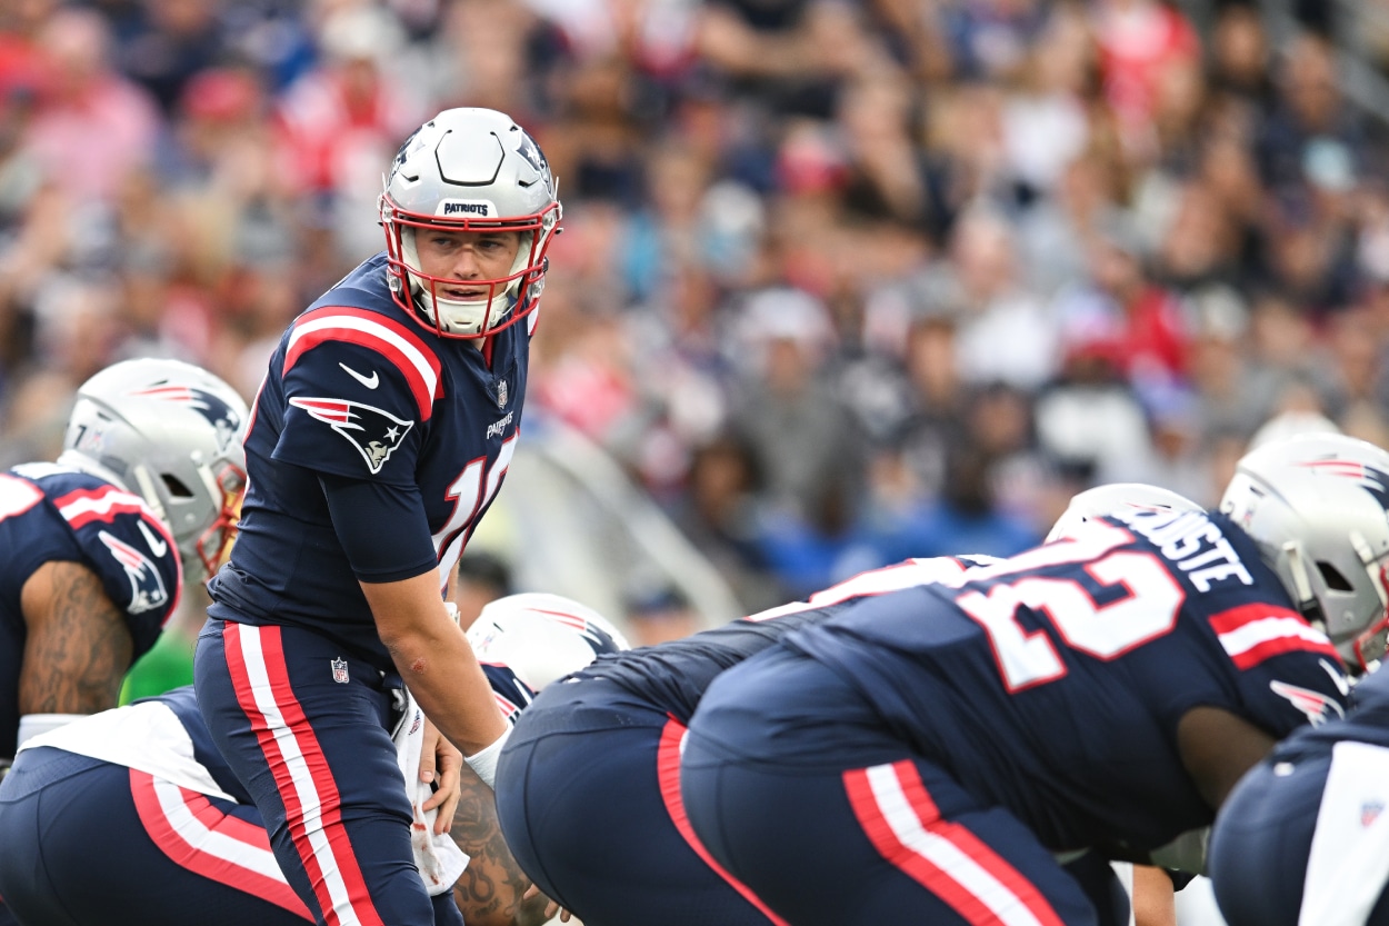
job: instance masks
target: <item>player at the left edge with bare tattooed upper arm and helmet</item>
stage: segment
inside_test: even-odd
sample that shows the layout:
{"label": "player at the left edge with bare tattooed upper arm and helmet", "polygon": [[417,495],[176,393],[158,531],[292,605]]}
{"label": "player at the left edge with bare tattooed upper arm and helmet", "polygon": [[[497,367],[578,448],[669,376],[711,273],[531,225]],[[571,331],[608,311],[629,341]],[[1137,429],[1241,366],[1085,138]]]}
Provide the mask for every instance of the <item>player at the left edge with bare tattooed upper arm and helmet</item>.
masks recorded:
{"label": "player at the left edge with bare tattooed upper arm and helmet", "polygon": [[242,398],[176,360],[78,389],[57,463],[0,473],[0,761],[114,708],[121,679],[235,533]]}

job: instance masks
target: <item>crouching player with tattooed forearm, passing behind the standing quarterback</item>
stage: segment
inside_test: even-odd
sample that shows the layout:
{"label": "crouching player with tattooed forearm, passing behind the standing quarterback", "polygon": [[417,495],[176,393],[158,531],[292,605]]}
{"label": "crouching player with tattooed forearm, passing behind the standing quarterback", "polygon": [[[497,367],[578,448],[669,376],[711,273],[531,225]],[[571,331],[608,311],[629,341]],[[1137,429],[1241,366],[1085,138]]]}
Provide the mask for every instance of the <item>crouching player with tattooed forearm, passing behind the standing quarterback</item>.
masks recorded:
{"label": "crouching player with tattooed forearm, passing behind the standing quarterback", "polygon": [[[510,720],[550,681],[626,649],[601,616],[544,594],[490,602],[468,634]],[[406,787],[422,724],[413,702],[397,713]],[[453,827],[438,838],[429,838],[421,797],[411,794],[415,866],[431,895],[453,888],[469,926],[542,922],[546,898],[522,904],[531,884],[497,830],[490,790],[464,770]],[[0,895],[24,925],[314,922],[275,863],[260,812],[217,752],[192,687],[25,744],[0,781]]]}

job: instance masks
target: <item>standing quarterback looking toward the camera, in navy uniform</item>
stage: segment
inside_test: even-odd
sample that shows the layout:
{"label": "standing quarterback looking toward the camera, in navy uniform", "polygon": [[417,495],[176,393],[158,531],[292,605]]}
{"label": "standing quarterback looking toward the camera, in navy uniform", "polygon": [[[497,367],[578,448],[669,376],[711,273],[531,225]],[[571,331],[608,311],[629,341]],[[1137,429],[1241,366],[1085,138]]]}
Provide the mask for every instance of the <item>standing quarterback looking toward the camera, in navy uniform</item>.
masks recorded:
{"label": "standing quarterback looking toward the camera, in navy uniform", "polygon": [[411,870],[386,717],[407,684],[490,786],[510,727],[443,590],[515,450],[560,202],[519,125],[454,108],[400,146],[381,224],[271,356],[193,677],[314,916],[457,923]]}

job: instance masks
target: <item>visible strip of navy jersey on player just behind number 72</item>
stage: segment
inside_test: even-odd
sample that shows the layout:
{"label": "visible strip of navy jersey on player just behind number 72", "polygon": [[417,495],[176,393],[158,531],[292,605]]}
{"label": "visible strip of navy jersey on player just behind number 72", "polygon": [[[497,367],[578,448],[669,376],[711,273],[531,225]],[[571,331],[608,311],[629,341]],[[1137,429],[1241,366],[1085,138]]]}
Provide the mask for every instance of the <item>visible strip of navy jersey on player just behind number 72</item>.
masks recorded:
{"label": "visible strip of navy jersey on player just behind number 72", "polygon": [[772,608],[657,647],[599,656],[571,677],[606,679],[619,684],[654,709],[688,724],[704,690],[718,673],[771,647],[790,631],[825,622],[865,596],[922,584],[957,583],[967,569],[983,562],[993,559],[908,559],[815,592],[807,602]]}

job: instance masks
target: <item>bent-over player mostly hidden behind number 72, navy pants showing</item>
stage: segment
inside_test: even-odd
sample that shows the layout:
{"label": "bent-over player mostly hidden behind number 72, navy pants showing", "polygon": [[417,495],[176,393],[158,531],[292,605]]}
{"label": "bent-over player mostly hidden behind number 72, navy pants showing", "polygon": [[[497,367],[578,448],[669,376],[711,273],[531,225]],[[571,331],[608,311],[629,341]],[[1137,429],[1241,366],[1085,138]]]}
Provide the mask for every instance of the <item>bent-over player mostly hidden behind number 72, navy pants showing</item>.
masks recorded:
{"label": "bent-over player mostly hidden behind number 72, navy pants showing", "polygon": [[[1072,501],[1053,538],[1120,506],[1199,510],[1156,487],[1101,487]],[[710,856],[685,816],[679,749],[700,697],[718,673],[853,602],[917,585],[958,585],[967,569],[988,562],[996,560],[907,560],[807,602],[600,659],[546,690],[521,715],[497,773],[497,813],[521,868],[589,923],[783,922]]]}

